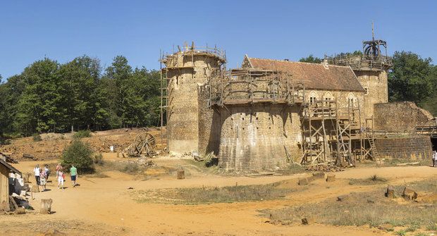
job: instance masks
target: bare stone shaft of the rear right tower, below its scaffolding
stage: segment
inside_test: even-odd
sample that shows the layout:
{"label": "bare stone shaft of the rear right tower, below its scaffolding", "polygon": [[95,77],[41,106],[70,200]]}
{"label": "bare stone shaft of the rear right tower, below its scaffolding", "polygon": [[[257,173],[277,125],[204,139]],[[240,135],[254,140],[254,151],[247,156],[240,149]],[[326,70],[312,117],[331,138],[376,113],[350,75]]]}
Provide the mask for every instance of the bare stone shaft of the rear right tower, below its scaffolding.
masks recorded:
{"label": "bare stone shaft of the rear right tower, below its scaffolding", "polygon": [[367,90],[364,94],[364,118],[374,116],[374,104],[388,102],[388,77],[386,70],[356,70],[359,83]]}

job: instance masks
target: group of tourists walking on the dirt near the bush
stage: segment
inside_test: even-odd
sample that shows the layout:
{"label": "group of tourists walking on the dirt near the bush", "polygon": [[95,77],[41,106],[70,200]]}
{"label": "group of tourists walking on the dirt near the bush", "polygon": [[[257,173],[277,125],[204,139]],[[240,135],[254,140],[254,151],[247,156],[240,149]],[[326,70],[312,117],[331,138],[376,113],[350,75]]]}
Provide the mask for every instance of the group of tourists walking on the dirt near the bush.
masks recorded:
{"label": "group of tourists walking on the dirt near the bush", "polygon": [[[33,173],[35,173],[35,180],[37,185],[42,186],[42,191],[46,191],[47,180],[49,180],[50,169],[49,166],[44,165],[44,168],[40,168],[39,165],[35,166],[33,169]],[[63,190],[63,182],[65,182],[66,175],[63,171],[63,167],[61,163],[58,163],[56,166],[56,180],[58,181],[58,189]],[[76,187],[76,180],[78,178],[78,169],[75,168],[74,165],[71,165],[70,168],[70,179],[73,184],[73,187]]]}

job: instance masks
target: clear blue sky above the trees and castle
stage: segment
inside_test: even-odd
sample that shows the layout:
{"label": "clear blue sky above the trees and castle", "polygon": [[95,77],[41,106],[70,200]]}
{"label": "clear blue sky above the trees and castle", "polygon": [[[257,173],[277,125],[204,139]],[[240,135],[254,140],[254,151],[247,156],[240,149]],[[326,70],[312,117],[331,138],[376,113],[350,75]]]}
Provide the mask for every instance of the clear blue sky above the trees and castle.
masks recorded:
{"label": "clear blue sky above the trees and castle", "polygon": [[[248,54],[298,60],[361,50],[376,37],[388,53],[437,60],[437,1],[6,1],[0,0],[0,74],[47,56],[87,54],[109,66],[159,68],[159,51],[195,41],[226,50],[228,68]],[[436,63],[436,62],[434,62]]]}

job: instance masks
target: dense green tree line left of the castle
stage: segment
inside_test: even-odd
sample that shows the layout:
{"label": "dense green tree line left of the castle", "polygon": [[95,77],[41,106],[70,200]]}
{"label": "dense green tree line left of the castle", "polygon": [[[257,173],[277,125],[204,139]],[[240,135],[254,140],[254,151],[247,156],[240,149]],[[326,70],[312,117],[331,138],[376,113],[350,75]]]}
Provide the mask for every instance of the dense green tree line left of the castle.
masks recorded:
{"label": "dense green tree line left of the castle", "polygon": [[0,83],[0,135],[156,126],[159,76],[124,56],[107,68],[90,56],[35,61]]}

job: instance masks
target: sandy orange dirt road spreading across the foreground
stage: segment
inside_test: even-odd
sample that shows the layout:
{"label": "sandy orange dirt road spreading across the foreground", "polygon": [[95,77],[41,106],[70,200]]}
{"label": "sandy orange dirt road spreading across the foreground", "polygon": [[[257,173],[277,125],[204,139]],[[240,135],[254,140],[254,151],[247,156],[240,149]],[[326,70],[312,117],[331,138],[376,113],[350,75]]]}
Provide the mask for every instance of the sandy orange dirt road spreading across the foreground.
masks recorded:
{"label": "sandy orange dirt road spreading across the foreground", "polygon": [[[31,170],[34,161],[16,165],[23,171]],[[390,182],[411,182],[437,175],[437,168],[427,166],[405,166],[386,168],[350,168],[336,173],[336,182],[316,181],[302,187],[302,191],[290,194],[285,199],[273,201],[252,201],[232,204],[172,205],[139,203],[130,194],[133,190],[151,190],[177,187],[202,187],[257,185],[286,180],[283,184],[297,186],[297,178],[304,174],[288,176],[229,177],[220,175],[191,175],[185,180],[173,176],[154,180],[135,180],[132,175],[118,171],[107,172],[109,178],[79,176],[79,187],[66,182],[66,190],[58,190],[49,182],[48,192],[38,193],[32,206],[39,206],[40,199],[51,198],[56,213],[44,216],[0,216],[0,235],[10,232],[19,222],[55,222],[44,229],[58,228],[68,235],[392,235],[388,232],[362,227],[336,227],[331,225],[272,225],[267,218],[259,216],[259,210],[293,206],[312,201],[321,201],[339,194],[366,191],[375,186],[347,185],[348,178],[369,178],[371,175],[388,178]],[[380,186],[383,187],[383,186]],[[321,209],[322,211],[323,209]],[[75,227],[56,222],[72,222]],[[25,230],[23,235],[26,235]],[[14,233],[20,235],[20,233]]]}

